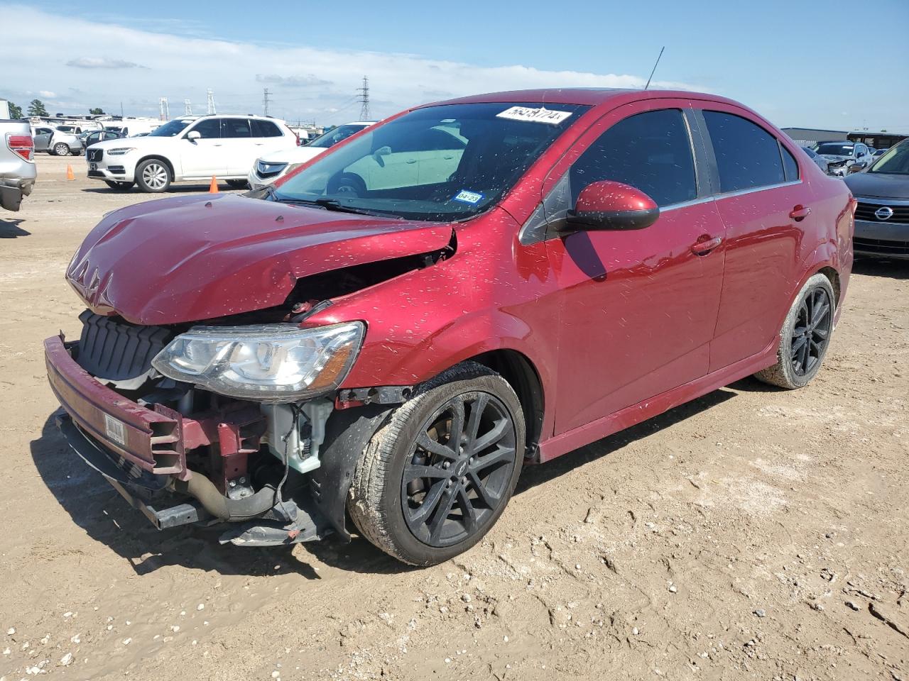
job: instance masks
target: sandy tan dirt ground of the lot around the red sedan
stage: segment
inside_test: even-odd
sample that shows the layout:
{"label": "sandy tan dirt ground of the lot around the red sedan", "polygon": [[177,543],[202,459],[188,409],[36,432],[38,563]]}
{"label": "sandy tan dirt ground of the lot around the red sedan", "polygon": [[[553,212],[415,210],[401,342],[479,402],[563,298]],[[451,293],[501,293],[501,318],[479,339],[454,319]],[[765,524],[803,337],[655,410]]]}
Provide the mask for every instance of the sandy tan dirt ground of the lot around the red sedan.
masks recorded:
{"label": "sandy tan dirt ground of the lot around the red sedan", "polygon": [[69,452],[41,341],[78,333],[85,233],[149,197],[38,169],[0,214],[0,681],[909,681],[909,263],[856,266],[809,388],[743,380],[526,469],[480,545],[410,569],[158,532]]}

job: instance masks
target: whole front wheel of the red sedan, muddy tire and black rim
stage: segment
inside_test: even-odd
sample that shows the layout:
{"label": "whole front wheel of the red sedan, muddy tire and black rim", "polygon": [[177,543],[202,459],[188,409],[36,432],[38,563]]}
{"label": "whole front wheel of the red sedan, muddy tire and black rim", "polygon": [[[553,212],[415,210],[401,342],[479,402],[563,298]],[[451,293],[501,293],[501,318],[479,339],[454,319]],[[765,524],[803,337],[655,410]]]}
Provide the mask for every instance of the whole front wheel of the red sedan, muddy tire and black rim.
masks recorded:
{"label": "whole front wheel of the red sedan, muddy tire and black rim", "polygon": [[[461,446],[449,447],[458,420]],[[480,449],[472,451],[474,443]],[[427,381],[375,433],[357,463],[347,508],[377,548],[410,565],[435,565],[493,527],[523,459],[524,412],[514,390],[494,371],[463,362]]]}

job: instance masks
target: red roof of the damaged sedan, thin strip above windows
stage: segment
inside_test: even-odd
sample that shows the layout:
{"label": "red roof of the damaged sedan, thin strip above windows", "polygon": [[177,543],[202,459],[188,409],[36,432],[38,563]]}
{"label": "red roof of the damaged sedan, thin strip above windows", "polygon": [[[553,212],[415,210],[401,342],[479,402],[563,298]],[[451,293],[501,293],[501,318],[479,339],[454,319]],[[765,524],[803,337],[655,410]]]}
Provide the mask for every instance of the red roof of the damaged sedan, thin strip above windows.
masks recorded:
{"label": "red roof of the damaged sedan, thin strip above windows", "polygon": [[[741,105],[731,99],[716,94],[696,93],[689,90],[637,90],[617,87],[559,87],[539,90],[509,90],[500,93],[474,94],[467,97],[424,104],[424,106],[437,106],[438,104],[481,104],[494,102],[539,102],[540,104],[586,104],[596,106],[615,100],[621,104],[622,100],[633,102],[641,99],[700,99],[724,104]],[[422,107],[418,107],[422,108]]]}

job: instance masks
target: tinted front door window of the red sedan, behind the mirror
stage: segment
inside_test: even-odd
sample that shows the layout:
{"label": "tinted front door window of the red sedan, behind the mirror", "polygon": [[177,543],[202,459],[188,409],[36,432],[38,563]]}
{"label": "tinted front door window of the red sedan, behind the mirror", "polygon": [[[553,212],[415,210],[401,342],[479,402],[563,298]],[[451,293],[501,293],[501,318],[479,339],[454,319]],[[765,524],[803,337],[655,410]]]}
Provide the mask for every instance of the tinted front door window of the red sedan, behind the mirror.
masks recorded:
{"label": "tinted front door window of the red sedan, behind the mirror", "polygon": [[602,180],[629,184],[661,207],[694,199],[694,154],[682,112],[634,114],[603,133],[571,168],[572,204]]}

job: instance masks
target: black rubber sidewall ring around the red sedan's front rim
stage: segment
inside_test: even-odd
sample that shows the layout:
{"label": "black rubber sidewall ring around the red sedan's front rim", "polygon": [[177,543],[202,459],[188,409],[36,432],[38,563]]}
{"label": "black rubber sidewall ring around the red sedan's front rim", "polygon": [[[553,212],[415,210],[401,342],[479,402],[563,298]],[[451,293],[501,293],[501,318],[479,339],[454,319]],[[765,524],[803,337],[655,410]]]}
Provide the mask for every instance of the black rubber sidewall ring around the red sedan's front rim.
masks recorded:
{"label": "black rubber sidewall ring around the red sedan's front rim", "polygon": [[[471,392],[488,393],[500,400],[504,404],[505,409],[509,411],[515,430],[514,445],[517,464],[514,466],[511,479],[508,481],[503,503],[499,508],[495,509],[489,518],[486,518],[484,526],[480,530],[451,546],[431,547],[415,538],[410,528],[407,527],[401,502],[401,479],[404,475],[405,464],[413,455],[415,440],[420,430],[425,426],[426,420],[454,396]],[[508,505],[508,501],[514,493],[517,479],[521,474],[524,459],[524,412],[511,386],[496,375],[479,376],[472,380],[454,380],[427,390],[415,399],[419,399],[420,403],[408,413],[398,437],[394,442],[389,443],[388,448],[384,452],[385,456],[388,457],[388,466],[383,480],[381,506],[389,534],[394,538],[395,549],[400,558],[414,565],[435,565],[449,558],[454,558],[454,556],[464,553],[464,551],[473,547],[480,539],[484,538],[485,534],[494,526],[504,512],[504,508]]]}

